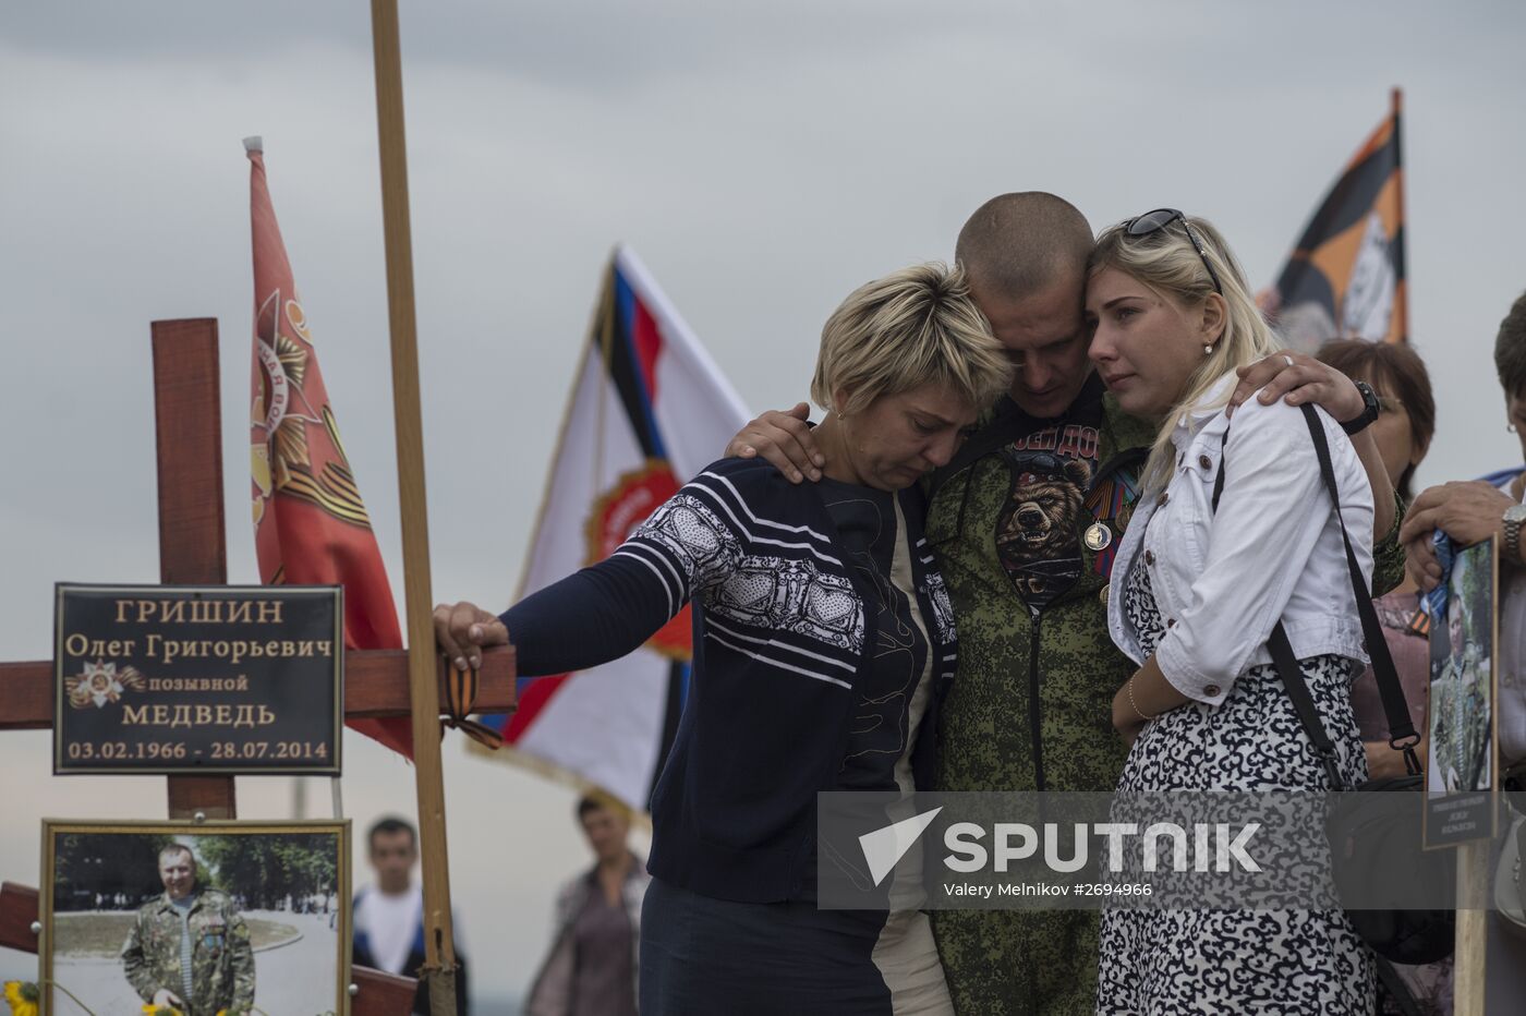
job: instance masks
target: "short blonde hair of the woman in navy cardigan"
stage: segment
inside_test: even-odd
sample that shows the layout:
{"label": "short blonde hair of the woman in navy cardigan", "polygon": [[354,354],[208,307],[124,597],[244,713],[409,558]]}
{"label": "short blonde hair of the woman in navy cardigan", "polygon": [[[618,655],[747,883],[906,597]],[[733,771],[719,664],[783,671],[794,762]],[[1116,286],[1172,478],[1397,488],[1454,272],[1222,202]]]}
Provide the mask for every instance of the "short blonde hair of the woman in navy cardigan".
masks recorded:
{"label": "short blonde hair of the woman in navy cardigan", "polygon": [[[810,398],[855,413],[881,395],[946,384],[978,409],[1012,381],[990,322],[969,296],[960,267],[917,264],[853,290],[821,328]],[[847,389],[847,404],[832,394]]]}

